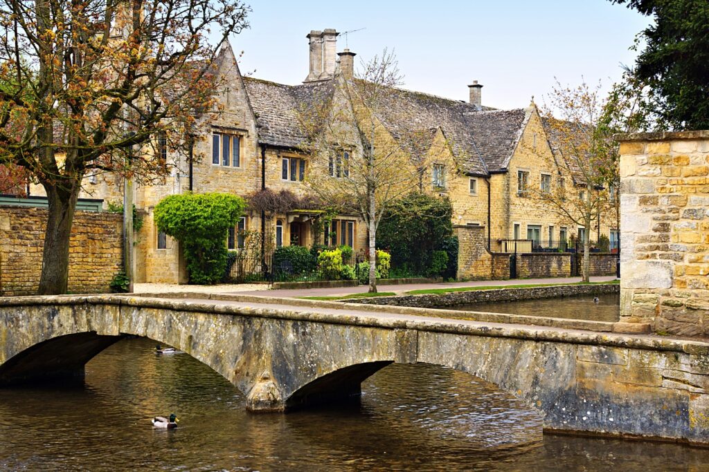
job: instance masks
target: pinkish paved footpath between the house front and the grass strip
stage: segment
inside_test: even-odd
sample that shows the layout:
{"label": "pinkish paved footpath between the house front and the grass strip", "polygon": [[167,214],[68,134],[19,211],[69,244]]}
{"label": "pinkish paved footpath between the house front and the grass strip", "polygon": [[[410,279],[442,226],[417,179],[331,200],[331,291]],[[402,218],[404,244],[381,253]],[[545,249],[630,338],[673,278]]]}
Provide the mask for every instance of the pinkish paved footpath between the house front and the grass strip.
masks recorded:
{"label": "pinkish paved footpath between the house front and the grass strip", "polygon": [[[591,282],[608,282],[615,277],[591,277]],[[477,282],[442,282],[437,284],[403,284],[403,285],[377,285],[379,292],[394,292],[401,294],[418,289],[449,289],[453,287],[496,287],[501,285],[532,285],[532,284],[568,284],[581,282],[581,277],[566,277],[557,279],[523,279],[523,280],[479,280]],[[186,287],[185,287],[186,288]],[[278,289],[271,290],[268,295],[274,297],[333,297],[336,295],[359,294],[367,292],[367,285],[359,287],[328,287],[323,289]],[[238,291],[223,292],[245,295],[267,295],[264,292]]]}

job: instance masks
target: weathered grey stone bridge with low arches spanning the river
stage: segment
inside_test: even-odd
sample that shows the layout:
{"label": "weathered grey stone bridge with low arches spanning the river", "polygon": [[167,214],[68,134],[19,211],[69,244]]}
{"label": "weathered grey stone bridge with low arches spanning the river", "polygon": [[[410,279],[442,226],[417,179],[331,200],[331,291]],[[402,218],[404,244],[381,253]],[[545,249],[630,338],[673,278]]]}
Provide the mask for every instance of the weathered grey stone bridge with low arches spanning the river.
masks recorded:
{"label": "weathered grey stone bridge with low arches spanning the river", "polygon": [[709,445],[709,343],[432,312],[259,297],[5,298],[0,385],[82,376],[91,357],[138,335],[207,364],[251,410],[357,395],[364,379],[392,362],[425,362],[523,399],[545,430]]}

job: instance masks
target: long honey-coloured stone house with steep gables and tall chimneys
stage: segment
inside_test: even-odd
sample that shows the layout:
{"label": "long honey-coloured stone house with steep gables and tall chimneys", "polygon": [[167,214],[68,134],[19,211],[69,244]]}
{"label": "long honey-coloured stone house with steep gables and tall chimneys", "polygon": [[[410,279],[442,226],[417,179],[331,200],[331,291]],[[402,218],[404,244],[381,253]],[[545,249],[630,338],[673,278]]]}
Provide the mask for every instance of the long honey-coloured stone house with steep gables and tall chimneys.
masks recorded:
{"label": "long honey-coloured stone house with steep gables and tall chimneys", "polygon": [[[167,195],[183,192],[233,192],[249,195],[264,188],[289,190],[306,197],[303,180],[309,170],[303,152],[306,136],[298,113],[323,101],[357,104],[343,93],[353,76],[355,54],[337,54],[335,30],[311,31],[308,75],[289,86],[242,75],[231,47],[224,47],[214,66],[222,78],[218,117],[197,120],[191,156],[170,156],[172,175],[161,183],[137,185],[135,204],[144,217],[135,251],[136,282],[185,282],[178,244],[160,234],[152,211]],[[339,57],[339,58],[338,58]],[[495,110],[481,105],[480,84],[469,86],[469,101],[427,93],[391,89],[389,103],[372,110],[382,125],[384,141],[401,142],[406,131],[418,132],[420,142],[411,161],[425,163],[418,190],[450,197],[453,223],[473,228],[486,238],[565,239],[578,231],[525,195],[520,185],[546,185],[557,175],[554,152],[534,103],[527,108]],[[354,115],[352,115],[354,116]],[[353,143],[353,149],[357,143]],[[160,149],[160,146],[158,146]],[[420,155],[415,155],[415,154]],[[415,158],[415,159],[413,159]],[[416,190],[412,188],[411,190]],[[35,192],[35,190],[33,190]],[[121,202],[123,185],[115,175],[86,177],[82,197]],[[35,192],[41,193],[41,192]],[[354,251],[367,247],[367,227],[354,214],[333,218],[320,241],[313,221],[318,209],[294,208],[283,213],[249,211],[225,243],[238,249],[240,234],[255,232],[272,246],[311,246],[316,242],[346,244]],[[596,230],[608,235],[603,221]],[[508,248],[494,248],[506,251]]]}

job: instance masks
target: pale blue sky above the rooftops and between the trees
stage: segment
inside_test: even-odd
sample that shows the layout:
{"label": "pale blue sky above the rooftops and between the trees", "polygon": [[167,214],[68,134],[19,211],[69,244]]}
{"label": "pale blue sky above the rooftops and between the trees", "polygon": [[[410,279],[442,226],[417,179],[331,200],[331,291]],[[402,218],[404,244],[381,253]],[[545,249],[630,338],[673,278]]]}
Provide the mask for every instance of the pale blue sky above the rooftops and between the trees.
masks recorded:
{"label": "pale blue sky above the rooftops and between the trees", "polygon": [[[554,77],[576,85],[583,76],[604,88],[632,64],[628,50],[649,23],[608,0],[253,0],[251,28],[232,39],[240,68],[259,79],[299,84],[308,74],[310,30],[347,35],[359,59],[396,52],[403,88],[467,100],[467,85],[484,85],[483,104],[520,108],[552,90]],[[345,36],[337,51],[345,48]]]}

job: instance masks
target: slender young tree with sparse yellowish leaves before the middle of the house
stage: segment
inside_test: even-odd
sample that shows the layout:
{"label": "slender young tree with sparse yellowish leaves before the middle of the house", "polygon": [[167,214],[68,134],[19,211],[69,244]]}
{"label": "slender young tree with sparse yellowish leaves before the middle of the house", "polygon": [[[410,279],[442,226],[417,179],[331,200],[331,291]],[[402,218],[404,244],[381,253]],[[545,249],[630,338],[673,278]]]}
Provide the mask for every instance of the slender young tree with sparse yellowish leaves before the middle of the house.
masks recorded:
{"label": "slender young tree with sparse yellowish leaves before the middle of the house", "polygon": [[393,53],[362,64],[354,79],[337,79],[332,98],[301,113],[310,155],[306,183],[340,212],[357,214],[369,231],[369,292],[376,292],[376,229],[394,202],[417,188],[419,166],[403,136],[392,136],[381,113],[401,74]]}

